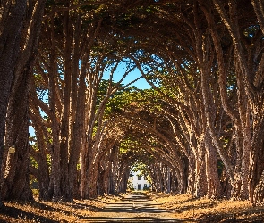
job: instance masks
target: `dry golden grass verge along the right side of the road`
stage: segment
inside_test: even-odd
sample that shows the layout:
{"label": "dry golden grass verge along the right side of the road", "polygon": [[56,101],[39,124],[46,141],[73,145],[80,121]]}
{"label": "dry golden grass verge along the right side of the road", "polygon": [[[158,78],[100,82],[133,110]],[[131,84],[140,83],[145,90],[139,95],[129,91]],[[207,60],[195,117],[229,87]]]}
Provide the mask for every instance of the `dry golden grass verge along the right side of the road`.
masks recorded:
{"label": "dry golden grass verge along the right side of the road", "polygon": [[248,201],[197,199],[189,194],[152,194],[152,198],[183,222],[264,222],[264,206],[253,207]]}

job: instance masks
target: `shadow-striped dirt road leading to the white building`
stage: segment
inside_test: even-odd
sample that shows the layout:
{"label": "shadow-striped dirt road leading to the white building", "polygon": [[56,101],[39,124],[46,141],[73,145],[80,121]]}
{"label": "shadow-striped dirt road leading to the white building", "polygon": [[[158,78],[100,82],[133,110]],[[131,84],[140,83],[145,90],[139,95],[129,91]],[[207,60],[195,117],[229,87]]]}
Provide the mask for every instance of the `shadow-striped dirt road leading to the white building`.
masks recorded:
{"label": "shadow-striped dirt road leading to the white building", "polygon": [[127,194],[122,200],[107,203],[89,219],[80,222],[180,222],[173,214],[151,200],[144,193]]}

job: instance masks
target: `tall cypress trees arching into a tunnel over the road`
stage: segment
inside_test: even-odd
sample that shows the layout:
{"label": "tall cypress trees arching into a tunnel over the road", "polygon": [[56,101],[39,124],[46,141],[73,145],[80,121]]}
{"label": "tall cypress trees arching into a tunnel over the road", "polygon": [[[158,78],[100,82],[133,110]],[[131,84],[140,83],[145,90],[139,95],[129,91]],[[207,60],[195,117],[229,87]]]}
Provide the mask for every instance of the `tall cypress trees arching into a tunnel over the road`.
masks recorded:
{"label": "tall cypress trees arching into a tunnel over the road", "polygon": [[0,1],[0,201],[122,193],[141,162],[157,192],[264,202],[263,52],[261,0]]}

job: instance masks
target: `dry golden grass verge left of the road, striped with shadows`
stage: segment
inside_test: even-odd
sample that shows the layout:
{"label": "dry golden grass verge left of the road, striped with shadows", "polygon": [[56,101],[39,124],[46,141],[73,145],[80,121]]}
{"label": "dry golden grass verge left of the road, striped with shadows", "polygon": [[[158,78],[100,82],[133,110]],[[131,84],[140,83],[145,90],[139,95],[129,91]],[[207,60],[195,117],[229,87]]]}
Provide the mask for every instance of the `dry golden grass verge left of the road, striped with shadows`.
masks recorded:
{"label": "dry golden grass verge left of the road, striped with shadows", "polygon": [[120,196],[101,196],[97,199],[71,202],[4,202],[0,209],[0,222],[76,222],[92,216],[106,203],[119,200]]}

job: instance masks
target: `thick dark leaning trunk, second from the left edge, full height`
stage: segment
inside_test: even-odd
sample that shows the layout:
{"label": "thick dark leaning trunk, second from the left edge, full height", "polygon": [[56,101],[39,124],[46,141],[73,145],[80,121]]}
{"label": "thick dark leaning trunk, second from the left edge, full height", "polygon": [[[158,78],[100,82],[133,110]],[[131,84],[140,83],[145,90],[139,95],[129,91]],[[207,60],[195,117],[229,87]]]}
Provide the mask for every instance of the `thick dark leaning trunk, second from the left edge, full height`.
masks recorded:
{"label": "thick dark leaning trunk, second from the left edge, full height", "polygon": [[[24,7],[24,1],[20,1],[19,4]],[[8,163],[4,165],[3,193],[6,199],[32,199],[29,183],[29,82],[35,62],[44,6],[44,0],[38,1],[33,7],[29,7],[30,16],[25,20],[21,18],[25,28],[20,39],[19,57],[13,70],[13,88],[6,122],[6,145],[15,145],[14,153],[8,154]],[[21,13],[23,15],[24,12]],[[20,24],[21,21],[15,22]],[[9,69],[12,70],[10,67]]]}

